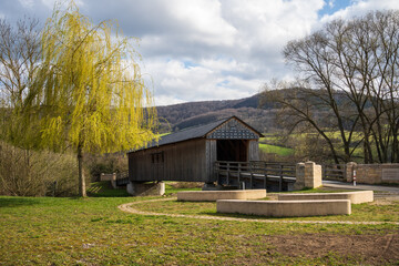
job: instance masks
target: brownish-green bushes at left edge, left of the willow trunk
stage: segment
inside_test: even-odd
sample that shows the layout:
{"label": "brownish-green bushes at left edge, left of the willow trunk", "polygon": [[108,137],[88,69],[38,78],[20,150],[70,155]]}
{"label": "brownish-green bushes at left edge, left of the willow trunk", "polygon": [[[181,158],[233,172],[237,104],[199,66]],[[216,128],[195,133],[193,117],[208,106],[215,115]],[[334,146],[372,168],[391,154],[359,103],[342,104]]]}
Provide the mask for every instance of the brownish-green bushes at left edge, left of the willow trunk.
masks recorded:
{"label": "brownish-green bushes at left edge, left of the willow trunk", "polygon": [[72,154],[32,152],[0,142],[0,194],[71,196],[78,193]]}

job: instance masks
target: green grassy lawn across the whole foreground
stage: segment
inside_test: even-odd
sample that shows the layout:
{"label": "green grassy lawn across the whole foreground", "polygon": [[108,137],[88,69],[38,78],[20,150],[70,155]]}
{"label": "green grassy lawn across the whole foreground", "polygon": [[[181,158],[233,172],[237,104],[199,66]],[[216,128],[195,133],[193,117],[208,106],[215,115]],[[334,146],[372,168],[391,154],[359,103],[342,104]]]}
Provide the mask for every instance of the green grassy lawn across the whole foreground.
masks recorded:
{"label": "green grassy lawn across the whole foreground", "polygon": [[[168,187],[167,192],[176,191]],[[96,197],[89,198],[1,196],[0,265],[399,263],[398,249],[383,254],[389,239],[388,249],[398,248],[398,242],[391,237],[398,238],[398,225],[283,223],[285,219],[280,219],[282,223],[245,223],[136,215],[123,213],[117,206],[168,196],[124,197],[123,193],[101,188],[92,190]],[[134,207],[218,216],[214,203],[143,202]],[[352,213],[304,219],[395,222],[399,221],[399,203],[352,205]],[[358,252],[350,252],[352,248]]]}

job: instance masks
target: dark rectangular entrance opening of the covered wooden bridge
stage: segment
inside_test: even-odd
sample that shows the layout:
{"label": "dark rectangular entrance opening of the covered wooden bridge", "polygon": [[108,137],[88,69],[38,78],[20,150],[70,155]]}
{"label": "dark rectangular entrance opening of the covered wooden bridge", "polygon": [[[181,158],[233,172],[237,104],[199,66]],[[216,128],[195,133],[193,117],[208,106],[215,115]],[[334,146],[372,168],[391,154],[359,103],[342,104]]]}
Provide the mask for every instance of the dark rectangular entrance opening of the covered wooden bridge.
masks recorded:
{"label": "dark rectangular entrance opening of the covered wooden bridge", "polygon": [[217,161],[247,162],[249,141],[218,140]]}

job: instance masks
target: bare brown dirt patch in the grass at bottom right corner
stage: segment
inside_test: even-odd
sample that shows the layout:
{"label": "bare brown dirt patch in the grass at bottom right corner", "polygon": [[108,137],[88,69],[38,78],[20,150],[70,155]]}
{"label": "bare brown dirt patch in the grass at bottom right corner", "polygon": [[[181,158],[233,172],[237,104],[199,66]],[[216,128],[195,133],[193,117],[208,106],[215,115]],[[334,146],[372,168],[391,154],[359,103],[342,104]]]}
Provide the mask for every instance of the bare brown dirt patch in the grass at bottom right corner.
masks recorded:
{"label": "bare brown dirt patch in the grass at bottom right corner", "polygon": [[279,235],[267,236],[276,252],[293,257],[321,258],[329,254],[356,259],[361,264],[399,263],[399,234],[388,235]]}

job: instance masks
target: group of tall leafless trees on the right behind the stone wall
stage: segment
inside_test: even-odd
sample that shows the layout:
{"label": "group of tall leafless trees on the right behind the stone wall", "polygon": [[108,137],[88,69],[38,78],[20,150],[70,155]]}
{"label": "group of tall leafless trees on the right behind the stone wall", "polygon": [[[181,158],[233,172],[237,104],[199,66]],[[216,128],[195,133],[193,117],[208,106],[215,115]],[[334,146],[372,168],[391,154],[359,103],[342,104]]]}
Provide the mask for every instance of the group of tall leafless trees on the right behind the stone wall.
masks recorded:
{"label": "group of tall leafless trees on the right behind the stone wall", "polygon": [[317,133],[335,163],[399,162],[399,11],[334,20],[283,53],[298,76],[266,83],[262,99],[288,134]]}

